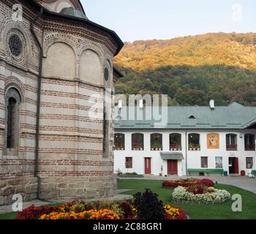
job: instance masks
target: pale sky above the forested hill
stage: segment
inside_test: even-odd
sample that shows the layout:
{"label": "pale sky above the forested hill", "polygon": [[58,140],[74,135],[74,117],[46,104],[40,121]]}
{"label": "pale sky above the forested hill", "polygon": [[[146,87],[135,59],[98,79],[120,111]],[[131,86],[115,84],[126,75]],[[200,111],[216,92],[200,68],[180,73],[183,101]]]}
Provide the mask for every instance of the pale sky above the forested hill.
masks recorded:
{"label": "pale sky above the forested hill", "polygon": [[87,17],[125,42],[255,32],[256,0],[81,0]]}

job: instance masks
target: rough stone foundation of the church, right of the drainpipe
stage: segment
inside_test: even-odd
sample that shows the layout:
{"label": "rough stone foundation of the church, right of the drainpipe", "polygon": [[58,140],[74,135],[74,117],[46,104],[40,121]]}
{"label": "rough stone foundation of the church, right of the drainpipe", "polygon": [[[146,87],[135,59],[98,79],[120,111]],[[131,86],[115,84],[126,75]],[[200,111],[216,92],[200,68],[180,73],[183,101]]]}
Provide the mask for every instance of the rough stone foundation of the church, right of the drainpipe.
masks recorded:
{"label": "rough stone foundation of the church, right of the drainpipe", "polygon": [[115,176],[48,177],[41,180],[40,197],[45,200],[75,200],[113,197]]}

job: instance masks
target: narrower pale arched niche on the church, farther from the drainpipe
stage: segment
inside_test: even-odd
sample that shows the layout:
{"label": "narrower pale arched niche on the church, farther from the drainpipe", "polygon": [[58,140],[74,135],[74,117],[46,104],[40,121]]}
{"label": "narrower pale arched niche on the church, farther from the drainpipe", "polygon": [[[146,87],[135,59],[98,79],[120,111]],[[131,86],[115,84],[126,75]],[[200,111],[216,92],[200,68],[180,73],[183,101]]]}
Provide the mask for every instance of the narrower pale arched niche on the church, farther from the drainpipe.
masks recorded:
{"label": "narrower pale arched niche on the church, farther from the drainpipe", "polygon": [[102,64],[99,56],[93,50],[84,50],[80,56],[80,79],[102,86]]}

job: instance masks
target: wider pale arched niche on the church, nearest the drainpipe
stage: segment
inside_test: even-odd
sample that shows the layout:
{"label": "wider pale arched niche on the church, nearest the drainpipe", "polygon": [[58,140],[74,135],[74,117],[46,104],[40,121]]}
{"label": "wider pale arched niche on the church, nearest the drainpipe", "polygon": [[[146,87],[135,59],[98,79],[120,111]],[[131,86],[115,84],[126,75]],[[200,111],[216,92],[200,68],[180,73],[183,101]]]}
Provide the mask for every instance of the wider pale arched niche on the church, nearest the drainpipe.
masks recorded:
{"label": "wider pale arched niche on the church, nearest the drainpipe", "polygon": [[63,42],[50,45],[43,61],[44,76],[75,78],[75,68],[75,52],[69,45]]}

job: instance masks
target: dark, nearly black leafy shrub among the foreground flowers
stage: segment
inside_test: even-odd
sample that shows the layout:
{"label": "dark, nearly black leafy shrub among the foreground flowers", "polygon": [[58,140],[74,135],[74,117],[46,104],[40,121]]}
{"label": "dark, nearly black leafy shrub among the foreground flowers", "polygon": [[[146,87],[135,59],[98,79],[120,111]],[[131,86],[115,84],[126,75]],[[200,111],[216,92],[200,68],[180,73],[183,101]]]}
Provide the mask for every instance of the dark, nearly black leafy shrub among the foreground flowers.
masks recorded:
{"label": "dark, nearly black leafy shrub among the foreground flowers", "polygon": [[138,192],[134,195],[135,206],[138,210],[138,219],[165,219],[166,212],[162,200],[150,189],[141,194]]}

